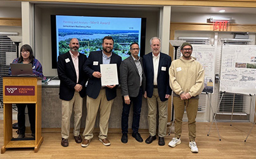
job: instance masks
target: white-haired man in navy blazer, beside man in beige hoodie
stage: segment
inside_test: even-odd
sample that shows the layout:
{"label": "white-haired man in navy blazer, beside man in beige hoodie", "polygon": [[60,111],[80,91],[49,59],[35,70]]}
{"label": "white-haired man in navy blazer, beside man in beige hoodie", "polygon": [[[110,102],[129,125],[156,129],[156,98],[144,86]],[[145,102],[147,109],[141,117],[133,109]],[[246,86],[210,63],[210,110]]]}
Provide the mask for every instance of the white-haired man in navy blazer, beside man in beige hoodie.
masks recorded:
{"label": "white-haired man in navy blazer, beside man in beige hoodie", "polygon": [[[167,104],[172,90],[169,85],[169,68],[172,59],[160,52],[161,40],[153,37],[150,40],[152,52],[143,57],[144,73],[146,75],[146,91],[144,97],[148,101],[148,129],[150,136],[146,143],[157,139],[157,105],[158,105],[158,144],[165,144],[164,137],[167,128]],[[158,104],[157,104],[158,103]]]}

